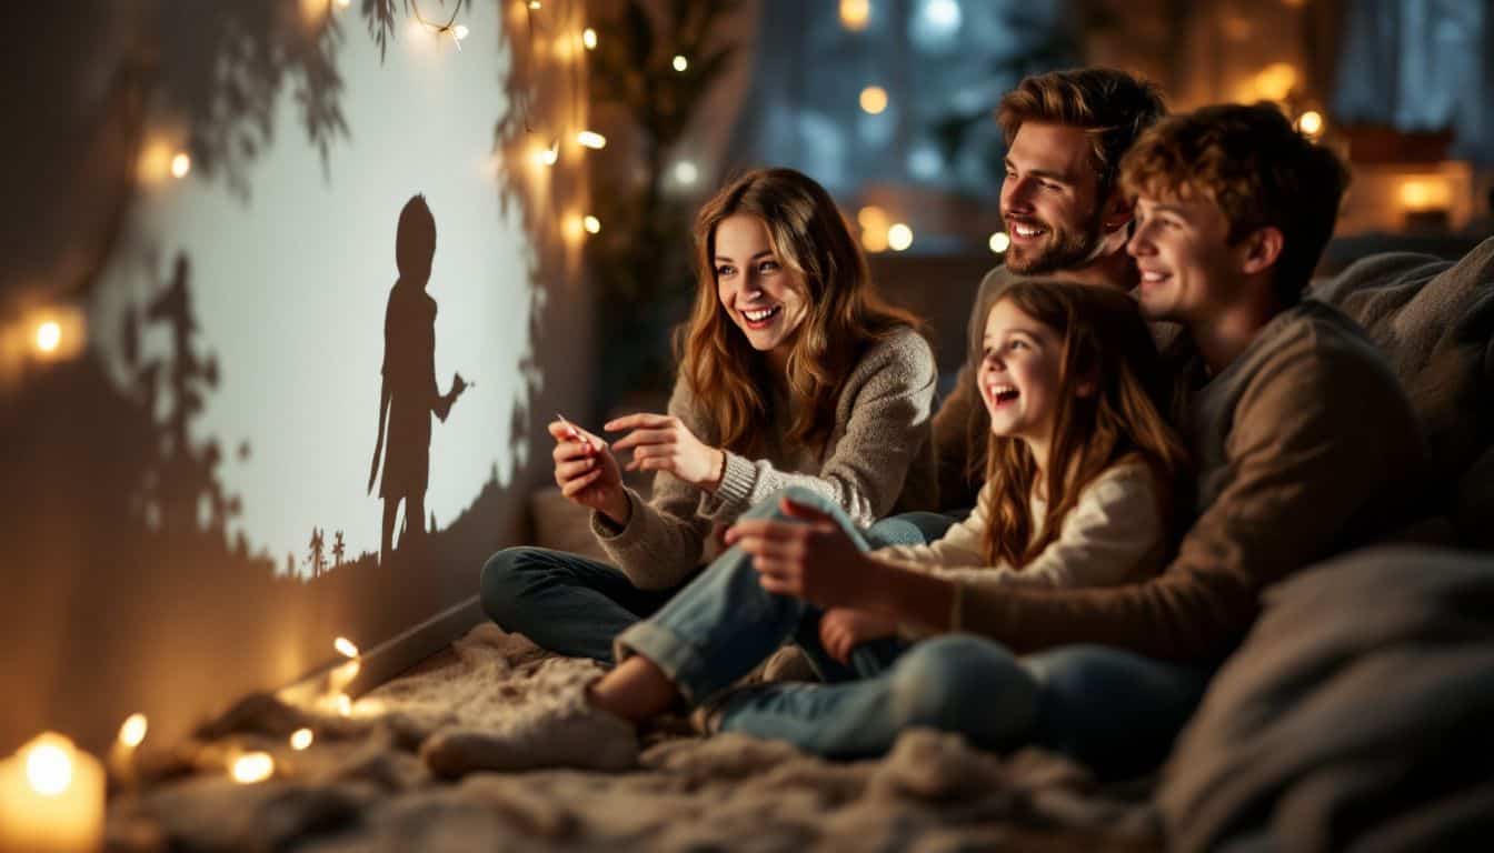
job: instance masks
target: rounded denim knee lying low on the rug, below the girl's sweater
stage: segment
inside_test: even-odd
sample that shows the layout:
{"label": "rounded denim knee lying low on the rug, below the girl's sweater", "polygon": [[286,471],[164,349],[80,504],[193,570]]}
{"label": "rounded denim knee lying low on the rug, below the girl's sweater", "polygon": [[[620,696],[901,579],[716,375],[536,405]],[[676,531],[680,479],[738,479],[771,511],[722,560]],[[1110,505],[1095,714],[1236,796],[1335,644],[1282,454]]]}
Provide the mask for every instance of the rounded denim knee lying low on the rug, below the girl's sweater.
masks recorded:
{"label": "rounded denim knee lying low on the rug, below the girl's sweater", "polygon": [[898,728],[961,732],[983,747],[1020,739],[1037,719],[1038,684],[1004,647],[949,635],[913,647],[892,672]]}

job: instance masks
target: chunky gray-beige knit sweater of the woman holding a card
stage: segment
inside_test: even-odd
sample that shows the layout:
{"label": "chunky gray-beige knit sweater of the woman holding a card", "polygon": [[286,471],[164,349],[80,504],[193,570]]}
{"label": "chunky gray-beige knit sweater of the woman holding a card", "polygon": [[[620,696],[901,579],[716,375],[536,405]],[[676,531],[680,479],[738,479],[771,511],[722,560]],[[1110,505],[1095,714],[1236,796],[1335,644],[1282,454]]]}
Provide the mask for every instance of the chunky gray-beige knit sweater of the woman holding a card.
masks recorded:
{"label": "chunky gray-beige knit sweater of the woman holding a card", "polygon": [[[668,589],[716,556],[720,535],[738,515],[790,486],[829,497],[862,527],[893,508],[931,509],[937,487],[929,423],[935,375],[928,342],[901,329],[872,345],[846,376],[823,451],[784,444],[793,412],[780,400],[765,430],[763,457],[728,451],[726,475],[714,493],[660,472],[653,500],[627,490],[624,527],[593,512],[592,532],[635,586]],[[705,444],[719,444],[716,426],[683,376],[669,397],[669,414]]]}

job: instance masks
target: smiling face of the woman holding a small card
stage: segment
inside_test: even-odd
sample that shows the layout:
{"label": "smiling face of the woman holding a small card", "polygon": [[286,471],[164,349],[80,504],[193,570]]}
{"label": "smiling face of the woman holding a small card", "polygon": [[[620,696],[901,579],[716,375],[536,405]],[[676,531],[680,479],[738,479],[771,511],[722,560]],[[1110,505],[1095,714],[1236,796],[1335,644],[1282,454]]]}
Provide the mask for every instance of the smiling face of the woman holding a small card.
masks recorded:
{"label": "smiling face of the woman holding a small card", "polygon": [[772,251],[768,226],[735,214],[716,226],[716,293],[747,342],[775,360],[787,359],[805,315],[804,276]]}

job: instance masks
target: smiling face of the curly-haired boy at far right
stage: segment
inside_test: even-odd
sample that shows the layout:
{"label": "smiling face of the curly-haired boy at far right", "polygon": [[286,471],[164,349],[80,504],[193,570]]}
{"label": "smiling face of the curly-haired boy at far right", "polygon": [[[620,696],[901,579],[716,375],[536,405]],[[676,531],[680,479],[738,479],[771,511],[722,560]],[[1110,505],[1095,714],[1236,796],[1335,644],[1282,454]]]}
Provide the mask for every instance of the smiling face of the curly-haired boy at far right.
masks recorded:
{"label": "smiling face of the curly-haired boy at far right", "polygon": [[1245,296],[1245,245],[1230,245],[1230,223],[1207,199],[1135,203],[1135,233],[1126,251],[1141,272],[1138,300],[1150,320],[1200,324]]}

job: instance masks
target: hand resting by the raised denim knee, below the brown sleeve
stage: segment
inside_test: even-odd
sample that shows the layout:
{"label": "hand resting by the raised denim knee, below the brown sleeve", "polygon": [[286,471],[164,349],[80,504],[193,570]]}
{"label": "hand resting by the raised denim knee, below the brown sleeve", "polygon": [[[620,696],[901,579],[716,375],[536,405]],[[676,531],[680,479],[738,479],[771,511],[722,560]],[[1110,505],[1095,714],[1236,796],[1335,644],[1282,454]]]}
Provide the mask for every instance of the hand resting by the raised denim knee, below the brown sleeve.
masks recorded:
{"label": "hand resting by the raised denim knee, below the brown sleeve", "polygon": [[881,563],[867,559],[829,515],[780,503],[795,521],[743,518],[726,530],[728,545],[753,556],[762,589],[805,599],[822,608],[858,607],[875,589]]}

